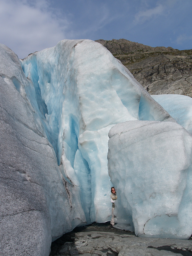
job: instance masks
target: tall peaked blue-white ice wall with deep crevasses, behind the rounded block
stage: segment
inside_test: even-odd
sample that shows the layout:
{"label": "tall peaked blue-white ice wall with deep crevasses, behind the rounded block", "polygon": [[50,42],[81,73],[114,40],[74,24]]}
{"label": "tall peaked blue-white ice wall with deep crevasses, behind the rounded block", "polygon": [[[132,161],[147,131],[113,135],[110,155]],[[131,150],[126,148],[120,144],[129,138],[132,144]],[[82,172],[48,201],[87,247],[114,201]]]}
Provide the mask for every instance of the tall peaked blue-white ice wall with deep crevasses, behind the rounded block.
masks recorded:
{"label": "tall peaked blue-white ice wall with deep crevasses, behind the rounded block", "polygon": [[[110,128],[170,116],[106,48],[91,40],[63,40],[25,58],[22,68],[40,92],[38,111],[51,129],[47,136],[62,175],[80,188],[87,222],[109,220]],[[33,104],[36,99],[26,93]]]}

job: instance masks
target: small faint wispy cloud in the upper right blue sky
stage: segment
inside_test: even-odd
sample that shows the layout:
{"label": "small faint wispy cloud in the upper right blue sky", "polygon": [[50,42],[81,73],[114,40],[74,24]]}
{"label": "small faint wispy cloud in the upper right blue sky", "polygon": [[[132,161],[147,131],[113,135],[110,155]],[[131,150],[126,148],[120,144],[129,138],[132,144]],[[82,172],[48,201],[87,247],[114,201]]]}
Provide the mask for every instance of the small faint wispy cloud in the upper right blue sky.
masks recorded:
{"label": "small faint wispy cloud in the upper right blue sky", "polygon": [[140,11],[140,12],[135,14],[134,23],[135,24],[143,23],[146,20],[150,20],[154,16],[162,15],[163,10],[164,10],[164,8],[163,8],[162,4],[159,4],[155,8]]}

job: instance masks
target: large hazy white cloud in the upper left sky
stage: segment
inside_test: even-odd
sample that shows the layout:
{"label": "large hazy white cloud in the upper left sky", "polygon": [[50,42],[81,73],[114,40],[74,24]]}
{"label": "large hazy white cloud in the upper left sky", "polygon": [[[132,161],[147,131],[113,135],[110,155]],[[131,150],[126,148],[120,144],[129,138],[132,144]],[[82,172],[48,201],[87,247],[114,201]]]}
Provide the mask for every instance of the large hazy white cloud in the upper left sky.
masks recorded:
{"label": "large hazy white cloud in the upper left sky", "polygon": [[19,58],[54,46],[65,39],[70,26],[59,12],[54,14],[45,0],[1,0],[0,24],[0,43],[17,51]]}

